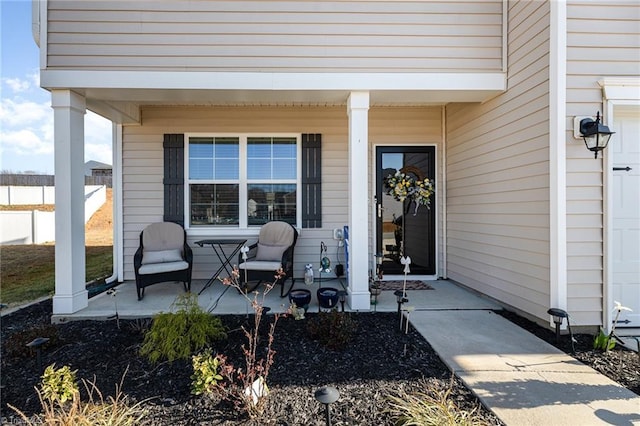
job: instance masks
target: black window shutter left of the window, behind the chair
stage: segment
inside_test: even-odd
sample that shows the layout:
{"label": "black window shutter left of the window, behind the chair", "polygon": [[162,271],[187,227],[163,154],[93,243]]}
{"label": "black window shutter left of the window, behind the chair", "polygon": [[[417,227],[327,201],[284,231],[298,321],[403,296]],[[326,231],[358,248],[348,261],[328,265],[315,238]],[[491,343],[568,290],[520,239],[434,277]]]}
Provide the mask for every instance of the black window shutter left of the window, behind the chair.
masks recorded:
{"label": "black window shutter left of the window, behind the chair", "polygon": [[184,135],[165,134],[164,221],[184,226]]}

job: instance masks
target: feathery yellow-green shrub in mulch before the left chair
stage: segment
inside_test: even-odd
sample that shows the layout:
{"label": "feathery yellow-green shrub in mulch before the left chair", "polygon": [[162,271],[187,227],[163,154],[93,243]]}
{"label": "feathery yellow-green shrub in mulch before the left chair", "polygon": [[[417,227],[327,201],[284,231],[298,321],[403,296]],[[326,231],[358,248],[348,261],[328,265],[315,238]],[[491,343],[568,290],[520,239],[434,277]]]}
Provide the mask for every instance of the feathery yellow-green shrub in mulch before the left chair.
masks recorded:
{"label": "feathery yellow-green shrub in mulch before the left chair", "polygon": [[220,318],[198,305],[198,296],[186,293],[175,302],[176,312],[154,316],[145,334],[140,354],[152,363],[160,360],[189,359],[215,340],[227,337]]}

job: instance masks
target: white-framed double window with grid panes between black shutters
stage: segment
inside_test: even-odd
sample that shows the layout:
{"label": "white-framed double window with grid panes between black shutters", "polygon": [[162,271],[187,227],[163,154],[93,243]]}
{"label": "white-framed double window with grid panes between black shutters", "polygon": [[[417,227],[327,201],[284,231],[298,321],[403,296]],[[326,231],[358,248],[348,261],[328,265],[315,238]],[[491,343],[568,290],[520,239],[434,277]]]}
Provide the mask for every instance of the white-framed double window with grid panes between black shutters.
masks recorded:
{"label": "white-framed double window with grid panes between black shutters", "polygon": [[187,135],[189,227],[299,226],[300,135]]}

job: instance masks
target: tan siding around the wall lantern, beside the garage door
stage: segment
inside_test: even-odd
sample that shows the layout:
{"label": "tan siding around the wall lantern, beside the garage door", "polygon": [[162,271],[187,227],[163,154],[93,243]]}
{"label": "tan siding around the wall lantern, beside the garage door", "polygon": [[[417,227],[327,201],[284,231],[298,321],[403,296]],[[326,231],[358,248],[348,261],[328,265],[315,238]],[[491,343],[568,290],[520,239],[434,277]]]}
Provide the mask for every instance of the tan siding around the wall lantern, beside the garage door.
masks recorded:
{"label": "tan siding around the wall lantern, beside the garage door", "polygon": [[604,171],[573,138],[573,117],[605,112],[598,80],[638,75],[640,4],[567,2],[567,280],[576,325],[602,324]]}

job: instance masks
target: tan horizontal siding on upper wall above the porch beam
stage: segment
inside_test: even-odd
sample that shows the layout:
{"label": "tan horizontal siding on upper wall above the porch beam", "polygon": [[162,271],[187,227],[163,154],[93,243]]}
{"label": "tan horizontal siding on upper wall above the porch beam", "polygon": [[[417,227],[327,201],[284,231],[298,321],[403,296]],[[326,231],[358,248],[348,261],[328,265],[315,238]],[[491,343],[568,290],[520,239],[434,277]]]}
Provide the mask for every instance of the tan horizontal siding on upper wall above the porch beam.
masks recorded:
{"label": "tan horizontal siding on upper wall above the porch beam", "polygon": [[47,68],[496,72],[502,1],[50,0]]}

